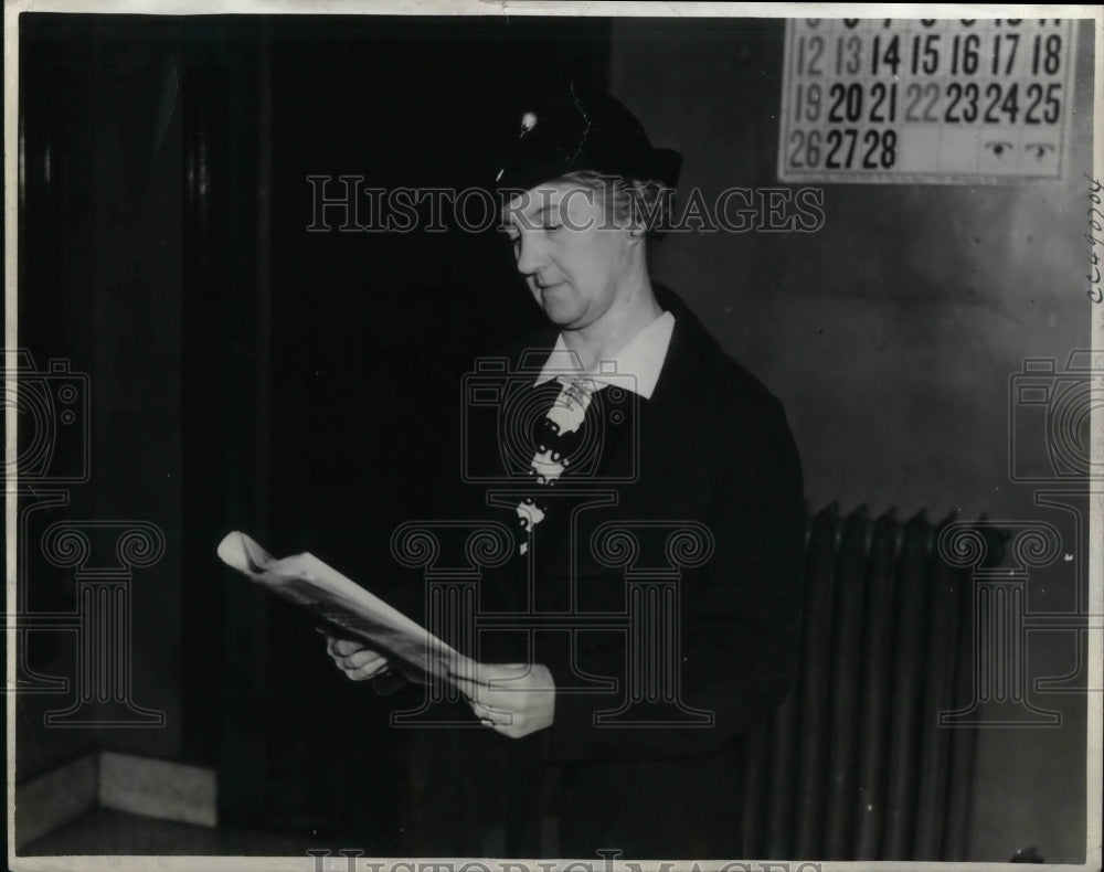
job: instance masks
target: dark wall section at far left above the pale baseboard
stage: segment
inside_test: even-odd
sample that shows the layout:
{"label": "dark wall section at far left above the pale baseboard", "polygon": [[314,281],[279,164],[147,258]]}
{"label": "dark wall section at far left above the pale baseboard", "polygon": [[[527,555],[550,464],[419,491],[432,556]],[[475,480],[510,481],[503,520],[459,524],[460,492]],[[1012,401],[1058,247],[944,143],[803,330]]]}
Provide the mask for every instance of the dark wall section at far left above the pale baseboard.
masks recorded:
{"label": "dark wall section at far left above the pale baseboard", "polygon": [[[76,570],[43,560],[38,536],[53,521],[88,530],[89,566],[117,565],[115,534],[92,523],[148,522],[166,549],[130,583],[131,701],[164,714],[161,726],[50,726],[78,692],[75,634],[32,634],[30,666],[65,679],[62,692],[20,698],[17,772],[24,780],[92,747],[173,757],[181,744],[181,126],[164,41],[96,31],[78,21],[22,18],[25,128],[20,215],[20,344],[39,369],[65,359],[88,377],[85,482],[46,491],[67,506],[32,512],[25,544],[33,612],[73,613]],[[21,426],[26,422],[21,422]],[[75,448],[57,440],[59,459]],[[72,459],[72,458],[70,458]],[[24,506],[31,504],[31,499]]]}

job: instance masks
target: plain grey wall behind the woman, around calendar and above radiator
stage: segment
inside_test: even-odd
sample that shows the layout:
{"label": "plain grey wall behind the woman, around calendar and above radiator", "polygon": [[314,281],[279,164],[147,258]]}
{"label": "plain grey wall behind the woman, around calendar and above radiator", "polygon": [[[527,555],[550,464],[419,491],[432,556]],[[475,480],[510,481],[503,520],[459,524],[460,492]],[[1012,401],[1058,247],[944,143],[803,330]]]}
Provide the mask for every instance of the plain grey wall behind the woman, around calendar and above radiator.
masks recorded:
{"label": "plain grey wall behind the woman, around calendar and above radiator", "polygon": [[[1022,358],[1061,368],[1090,341],[1087,22],[1080,35],[1063,181],[826,185],[818,233],[672,235],[657,247],[654,275],[783,401],[814,509],[1058,522],[1009,482],[1008,396]],[[682,152],[682,192],[712,201],[731,185],[777,185],[782,52],[776,21],[619,19],[611,88],[656,145]],[[1060,568],[1033,576],[1031,608],[1070,608],[1071,584]],[[1073,671],[1069,634],[1029,644],[1032,674]],[[1045,705],[1061,729],[981,731],[970,859],[1032,843],[1048,861],[1084,857],[1084,700]]]}

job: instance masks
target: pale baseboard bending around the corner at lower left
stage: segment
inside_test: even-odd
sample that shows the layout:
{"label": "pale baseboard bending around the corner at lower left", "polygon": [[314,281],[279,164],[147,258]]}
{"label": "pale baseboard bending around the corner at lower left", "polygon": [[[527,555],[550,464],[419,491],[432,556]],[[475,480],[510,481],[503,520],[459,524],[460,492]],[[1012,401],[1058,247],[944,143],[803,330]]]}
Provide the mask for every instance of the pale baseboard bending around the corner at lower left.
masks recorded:
{"label": "pale baseboard bending around the corner at lower left", "polygon": [[116,751],[88,754],[15,787],[15,848],[94,808],[217,825],[214,769]]}

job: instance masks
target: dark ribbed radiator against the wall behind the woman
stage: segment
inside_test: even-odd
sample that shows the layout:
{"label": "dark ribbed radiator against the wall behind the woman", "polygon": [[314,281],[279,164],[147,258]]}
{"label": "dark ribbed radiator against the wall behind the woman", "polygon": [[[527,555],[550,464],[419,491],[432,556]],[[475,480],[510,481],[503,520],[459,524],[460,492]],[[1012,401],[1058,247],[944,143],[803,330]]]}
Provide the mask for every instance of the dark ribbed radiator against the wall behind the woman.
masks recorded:
{"label": "dark ribbed radiator against the wall behind the woman", "polygon": [[976,731],[938,726],[973,691],[969,575],[935,547],[952,520],[810,518],[799,678],[742,740],[744,857],[963,858]]}

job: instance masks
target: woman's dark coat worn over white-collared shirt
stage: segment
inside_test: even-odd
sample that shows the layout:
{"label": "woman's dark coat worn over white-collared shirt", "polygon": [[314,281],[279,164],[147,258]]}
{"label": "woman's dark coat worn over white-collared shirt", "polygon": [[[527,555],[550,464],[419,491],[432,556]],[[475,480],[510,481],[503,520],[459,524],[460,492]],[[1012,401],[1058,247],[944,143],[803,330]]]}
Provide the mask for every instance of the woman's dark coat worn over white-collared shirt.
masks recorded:
{"label": "woman's dark coat worn over white-collared shirt", "polygon": [[[650,859],[740,852],[735,740],[782,702],[796,671],[802,471],[777,400],[676,295],[657,288],[657,298],[676,325],[651,398],[622,397],[618,416],[617,395],[598,394],[596,459],[549,491],[528,555],[534,610],[567,615],[562,624],[574,617],[576,631],[486,634],[475,651],[485,662],[532,657],[548,666],[554,723],[523,740],[422,731],[413,742],[412,853],[540,857],[551,830],[562,858],[603,849]],[[550,347],[554,334],[543,339]],[[486,487],[476,490],[464,511],[479,507],[516,523],[509,497],[496,509]],[[635,539],[627,565],[618,564],[625,540],[611,525]],[[671,539],[677,528],[682,535]],[[523,564],[488,574],[480,614],[524,609]],[[638,641],[662,640],[630,669],[625,616],[636,608],[638,619],[648,594],[637,586],[630,597],[626,572],[640,582],[657,568],[673,599],[652,600],[657,623],[634,625]],[[617,715],[630,696],[636,704]],[[612,720],[596,723],[597,713]]]}

